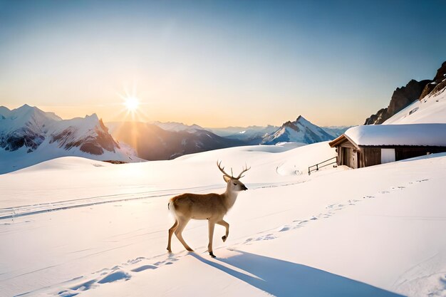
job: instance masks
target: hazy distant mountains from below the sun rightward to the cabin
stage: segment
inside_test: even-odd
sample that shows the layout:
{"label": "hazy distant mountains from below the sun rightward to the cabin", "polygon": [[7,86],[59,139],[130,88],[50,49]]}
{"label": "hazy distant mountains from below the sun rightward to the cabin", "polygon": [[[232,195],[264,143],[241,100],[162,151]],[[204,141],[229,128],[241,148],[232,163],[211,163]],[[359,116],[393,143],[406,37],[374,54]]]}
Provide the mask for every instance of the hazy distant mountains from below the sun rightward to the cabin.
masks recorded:
{"label": "hazy distant mountains from below the sun rightward to the cabin", "polygon": [[[204,128],[182,123],[106,123],[110,134],[119,142],[135,147],[145,160],[170,160],[181,155],[241,145],[274,145],[278,142],[313,143],[332,140],[348,127],[329,130],[313,125],[299,116],[281,127],[250,126]],[[340,135],[340,134],[339,134]]]}

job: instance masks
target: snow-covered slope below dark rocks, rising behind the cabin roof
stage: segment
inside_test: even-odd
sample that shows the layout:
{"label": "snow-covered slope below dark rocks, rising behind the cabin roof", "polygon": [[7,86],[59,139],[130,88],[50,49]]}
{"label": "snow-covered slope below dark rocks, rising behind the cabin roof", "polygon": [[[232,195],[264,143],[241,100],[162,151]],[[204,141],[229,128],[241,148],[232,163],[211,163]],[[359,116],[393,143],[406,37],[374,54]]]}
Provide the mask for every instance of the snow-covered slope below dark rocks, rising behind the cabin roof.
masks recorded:
{"label": "snow-covered slope below dark rocks, rising behind the cabin roof", "polygon": [[446,88],[434,95],[427,95],[421,100],[416,100],[386,120],[383,125],[421,123],[446,123]]}

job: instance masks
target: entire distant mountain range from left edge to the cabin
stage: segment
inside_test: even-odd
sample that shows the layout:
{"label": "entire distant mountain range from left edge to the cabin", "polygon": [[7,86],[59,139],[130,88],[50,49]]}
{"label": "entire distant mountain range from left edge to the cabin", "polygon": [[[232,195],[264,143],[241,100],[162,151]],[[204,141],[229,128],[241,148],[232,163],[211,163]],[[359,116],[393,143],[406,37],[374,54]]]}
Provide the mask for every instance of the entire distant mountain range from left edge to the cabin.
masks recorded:
{"label": "entire distant mountain range from left edge to the cabin", "polygon": [[103,123],[97,115],[63,120],[23,105],[0,107],[0,173],[54,157],[81,156],[113,162],[170,160],[181,155],[241,145],[331,140],[348,127],[324,130],[300,116],[276,127],[204,128],[182,123]]}

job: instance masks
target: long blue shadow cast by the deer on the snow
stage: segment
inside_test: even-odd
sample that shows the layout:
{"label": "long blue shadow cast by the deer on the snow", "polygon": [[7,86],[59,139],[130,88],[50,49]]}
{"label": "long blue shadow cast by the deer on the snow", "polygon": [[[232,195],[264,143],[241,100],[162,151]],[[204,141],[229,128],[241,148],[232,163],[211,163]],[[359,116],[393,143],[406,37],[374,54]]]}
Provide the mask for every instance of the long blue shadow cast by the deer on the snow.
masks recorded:
{"label": "long blue shadow cast by the deer on the snow", "polygon": [[[311,297],[400,297],[397,293],[385,291],[367,283],[338,276],[327,271],[315,269],[302,264],[291,263],[244,251],[237,251],[237,256],[228,259],[218,259],[224,264],[237,267],[248,274],[230,269],[229,267],[191,253],[204,264],[213,266],[251,286],[275,296],[311,296]],[[256,276],[256,277],[255,277]]]}

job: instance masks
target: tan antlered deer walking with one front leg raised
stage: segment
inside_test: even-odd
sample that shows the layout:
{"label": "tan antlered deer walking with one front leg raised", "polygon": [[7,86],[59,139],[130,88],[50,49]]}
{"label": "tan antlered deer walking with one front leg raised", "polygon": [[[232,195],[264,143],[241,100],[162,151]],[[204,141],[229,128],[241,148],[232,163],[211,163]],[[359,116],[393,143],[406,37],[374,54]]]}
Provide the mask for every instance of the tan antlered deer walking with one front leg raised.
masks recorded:
{"label": "tan antlered deer walking with one front leg raised", "polygon": [[212,258],[215,258],[212,251],[212,238],[214,237],[215,224],[219,224],[226,228],[226,233],[222,236],[223,242],[229,236],[229,224],[224,221],[223,217],[229,209],[234,206],[239,192],[246,191],[248,188],[240,181],[244,177],[244,172],[247,172],[251,167],[242,167],[242,172],[238,177],[234,177],[231,168],[231,175],[224,172],[224,167],[221,166],[222,161],[218,162],[217,167],[223,173],[224,182],[227,183],[226,191],[223,194],[191,194],[185,193],[172,197],[167,204],[167,208],[172,211],[175,217],[175,223],[169,229],[169,240],[167,242],[167,251],[172,253],[170,244],[172,243],[172,234],[175,233],[177,239],[181,242],[187,251],[193,251],[190,246],[186,244],[182,237],[182,231],[190,221],[190,219],[207,219],[209,229],[209,244],[207,251]]}

